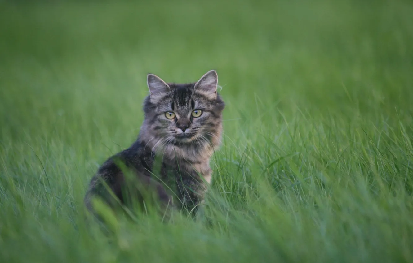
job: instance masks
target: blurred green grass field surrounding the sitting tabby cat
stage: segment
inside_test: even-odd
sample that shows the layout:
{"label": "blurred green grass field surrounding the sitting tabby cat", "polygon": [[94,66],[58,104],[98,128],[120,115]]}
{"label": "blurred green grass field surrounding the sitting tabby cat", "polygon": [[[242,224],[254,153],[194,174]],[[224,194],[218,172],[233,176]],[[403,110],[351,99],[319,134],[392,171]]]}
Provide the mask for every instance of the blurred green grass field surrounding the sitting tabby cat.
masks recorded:
{"label": "blurred green grass field surrounding the sitting tabby cat", "polygon": [[[413,262],[413,2],[0,1],[0,262]],[[218,72],[199,220],[86,225],[146,74]],[[90,230],[90,231],[88,231]]]}

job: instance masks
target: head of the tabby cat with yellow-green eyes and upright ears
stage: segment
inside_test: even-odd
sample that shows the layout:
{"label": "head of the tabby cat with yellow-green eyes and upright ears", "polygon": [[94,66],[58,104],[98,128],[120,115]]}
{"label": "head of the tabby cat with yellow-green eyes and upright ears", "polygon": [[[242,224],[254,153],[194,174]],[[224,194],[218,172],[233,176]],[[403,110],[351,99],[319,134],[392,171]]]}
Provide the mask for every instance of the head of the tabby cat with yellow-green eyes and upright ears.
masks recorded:
{"label": "head of the tabby cat with yellow-green eyes and upright ears", "polygon": [[147,134],[161,144],[218,144],[225,103],[217,85],[215,70],[189,84],[166,83],[157,75],[148,74],[150,95],[143,107]]}

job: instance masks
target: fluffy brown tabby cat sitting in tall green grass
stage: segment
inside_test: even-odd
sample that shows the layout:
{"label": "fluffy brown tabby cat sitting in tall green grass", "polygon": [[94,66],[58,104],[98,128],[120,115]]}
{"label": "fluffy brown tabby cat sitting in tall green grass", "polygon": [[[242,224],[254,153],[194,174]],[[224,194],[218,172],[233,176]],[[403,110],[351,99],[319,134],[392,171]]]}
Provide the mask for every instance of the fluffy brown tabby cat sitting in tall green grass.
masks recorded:
{"label": "fluffy brown tabby cat sitting in tall green grass", "polygon": [[[94,197],[114,206],[127,198],[143,202],[142,191],[152,191],[163,209],[196,214],[204,201],[211,182],[209,161],[221,144],[223,129],[225,103],[217,92],[218,75],[210,70],[195,83],[176,84],[148,74],[147,87],[138,138],[99,167],[84,198],[89,211],[94,211]],[[122,164],[136,185],[126,180]],[[137,188],[126,191],[130,186]]]}

